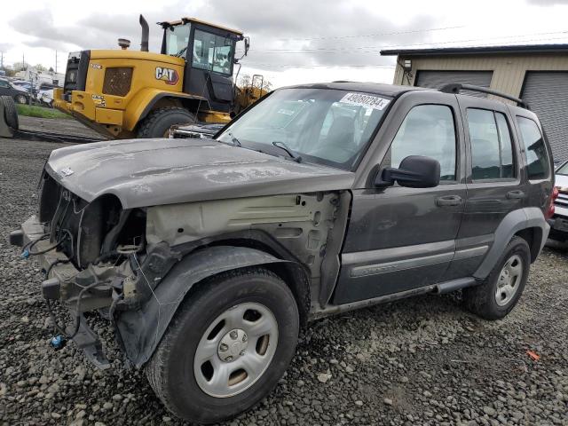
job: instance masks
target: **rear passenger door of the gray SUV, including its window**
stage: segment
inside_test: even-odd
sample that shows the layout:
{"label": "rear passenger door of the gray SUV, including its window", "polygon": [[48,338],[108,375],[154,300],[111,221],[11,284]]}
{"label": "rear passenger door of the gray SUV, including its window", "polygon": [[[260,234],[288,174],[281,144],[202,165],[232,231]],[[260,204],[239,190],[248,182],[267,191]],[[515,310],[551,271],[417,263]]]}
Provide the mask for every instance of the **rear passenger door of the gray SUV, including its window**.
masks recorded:
{"label": "rear passenger door of the gray SUV, including its window", "polygon": [[509,212],[525,206],[527,187],[519,161],[515,123],[505,104],[458,96],[466,134],[467,201],[456,250],[445,280],[470,276]]}

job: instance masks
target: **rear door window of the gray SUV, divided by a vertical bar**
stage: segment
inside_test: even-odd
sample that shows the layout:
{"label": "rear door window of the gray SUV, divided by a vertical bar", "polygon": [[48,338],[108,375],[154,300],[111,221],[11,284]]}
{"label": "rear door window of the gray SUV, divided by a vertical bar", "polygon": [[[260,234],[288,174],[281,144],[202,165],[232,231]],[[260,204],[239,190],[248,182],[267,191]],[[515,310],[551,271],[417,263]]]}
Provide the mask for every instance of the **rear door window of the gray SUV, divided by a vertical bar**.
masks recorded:
{"label": "rear door window of the gray SUV, divided by a vertical bar", "polygon": [[512,140],[504,114],[468,108],[471,178],[515,177]]}

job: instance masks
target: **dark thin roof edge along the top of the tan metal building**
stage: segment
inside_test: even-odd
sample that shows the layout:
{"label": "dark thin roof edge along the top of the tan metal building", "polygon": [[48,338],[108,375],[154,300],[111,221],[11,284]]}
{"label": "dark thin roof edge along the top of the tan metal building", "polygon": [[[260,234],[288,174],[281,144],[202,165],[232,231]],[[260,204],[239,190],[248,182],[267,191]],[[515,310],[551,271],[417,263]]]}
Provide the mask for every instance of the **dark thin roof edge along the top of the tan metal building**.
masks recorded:
{"label": "dark thin roof edge along the top of the tan metal building", "polygon": [[438,56],[497,53],[568,53],[568,44],[523,44],[509,46],[443,47],[433,49],[393,49],[381,51],[383,56]]}

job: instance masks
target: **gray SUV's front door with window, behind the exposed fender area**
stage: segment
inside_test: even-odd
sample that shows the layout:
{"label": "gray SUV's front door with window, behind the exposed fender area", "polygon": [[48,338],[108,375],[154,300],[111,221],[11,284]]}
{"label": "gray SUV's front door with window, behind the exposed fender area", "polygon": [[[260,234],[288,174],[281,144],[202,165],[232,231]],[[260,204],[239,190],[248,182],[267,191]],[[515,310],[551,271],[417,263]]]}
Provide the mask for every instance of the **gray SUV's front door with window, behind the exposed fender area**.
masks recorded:
{"label": "gray SUV's front door with window, behind the exposed fender area", "polygon": [[443,96],[444,102],[428,104],[406,99],[398,114],[403,118],[389,124],[398,130],[379,167],[397,168],[408,155],[428,156],[440,163],[440,184],[353,190],[334,304],[428,286],[442,280],[452,262],[466,199],[464,148],[455,96]]}

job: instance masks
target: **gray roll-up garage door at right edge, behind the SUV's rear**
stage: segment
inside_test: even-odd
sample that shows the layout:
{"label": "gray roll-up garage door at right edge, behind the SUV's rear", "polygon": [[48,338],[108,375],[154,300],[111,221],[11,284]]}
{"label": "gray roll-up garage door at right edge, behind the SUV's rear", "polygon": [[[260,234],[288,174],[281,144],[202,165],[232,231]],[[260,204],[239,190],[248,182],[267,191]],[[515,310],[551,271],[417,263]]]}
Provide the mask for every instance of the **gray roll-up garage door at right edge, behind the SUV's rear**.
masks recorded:
{"label": "gray roll-up garage door at right edge, behind the SUV's rear", "polygon": [[568,72],[528,71],[521,98],[539,116],[554,161],[568,160]]}

